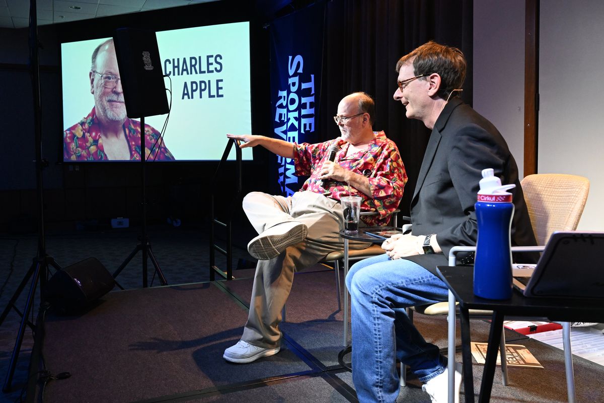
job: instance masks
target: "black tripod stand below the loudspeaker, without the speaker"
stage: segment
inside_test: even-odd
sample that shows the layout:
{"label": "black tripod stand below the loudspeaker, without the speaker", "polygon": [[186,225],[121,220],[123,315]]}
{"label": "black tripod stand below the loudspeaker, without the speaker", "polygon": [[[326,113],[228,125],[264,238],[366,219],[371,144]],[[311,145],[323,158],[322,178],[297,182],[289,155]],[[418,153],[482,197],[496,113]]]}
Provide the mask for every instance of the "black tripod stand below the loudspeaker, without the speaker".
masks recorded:
{"label": "black tripod stand below the loudspeaker, without the speaker", "polygon": [[[140,242],[137,243],[137,246],[134,250],[126,257],[123,263],[121,263],[120,267],[114,272],[113,278],[115,279],[119,276],[120,272],[130,263],[130,260],[133,259],[134,256],[139,251],[143,252],[143,287],[147,288],[147,258],[151,259],[153,263],[153,267],[155,268],[155,272],[159,277],[159,282],[161,285],[167,285],[168,282],[165,280],[164,274],[159,267],[159,263],[155,256],[153,255],[153,250],[151,249],[151,243],[149,242],[149,238],[147,237],[147,195],[146,195],[146,185],[145,185],[145,166],[147,164],[147,158],[145,155],[145,118],[141,116],[141,186],[142,186],[142,198],[143,198],[143,231],[141,233]],[[121,285],[116,282],[117,286],[121,289],[124,289]]]}

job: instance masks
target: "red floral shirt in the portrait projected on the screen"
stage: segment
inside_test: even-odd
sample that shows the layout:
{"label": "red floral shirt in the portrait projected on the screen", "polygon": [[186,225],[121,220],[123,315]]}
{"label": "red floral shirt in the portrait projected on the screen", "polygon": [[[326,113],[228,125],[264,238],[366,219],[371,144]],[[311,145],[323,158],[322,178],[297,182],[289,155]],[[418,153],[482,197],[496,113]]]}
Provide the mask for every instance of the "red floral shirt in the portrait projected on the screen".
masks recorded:
{"label": "red floral shirt in the portrait projected on the screen", "polygon": [[[123,124],[130,148],[130,160],[141,160],[141,123],[126,118]],[[157,141],[159,132],[145,124],[145,155],[149,161],[173,161],[174,156],[165,147],[163,140]],[[157,144],[156,144],[157,142]],[[153,147],[155,145],[155,147]],[[153,149],[153,151],[150,151]],[[63,132],[63,160],[65,161],[108,161],[103,149],[100,127],[95,108],[80,123]]]}

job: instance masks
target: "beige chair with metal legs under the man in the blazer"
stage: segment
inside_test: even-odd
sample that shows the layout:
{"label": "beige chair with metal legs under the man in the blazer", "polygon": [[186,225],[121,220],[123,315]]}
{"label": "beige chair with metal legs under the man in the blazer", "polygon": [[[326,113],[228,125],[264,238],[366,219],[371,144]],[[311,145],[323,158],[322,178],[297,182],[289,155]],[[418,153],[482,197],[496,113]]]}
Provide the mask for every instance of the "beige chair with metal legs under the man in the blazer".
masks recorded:
{"label": "beige chair with metal legs under the man in the blazer", "polygon": [[[521,181],[524,200],[527,204],[533,232],[537,244],[542,247],[550,239],[554,231],[576,230],[579,219],[583,213],[587,195],[590,190],[590,181],[583,176],[566,175],[562,173],[541,173],[528,175]],[[455,253],[467,251],[467,247],[456,247],[449,255],[449,265],[455,265]],[[520,251],[522,247],[512,248]],[[526,248],[525,248],[526,249]],[[456,251],[457,250],[457,251]],[[439,302],[431,305],[412,308],[413,311],[426,315],[448,315],[449,303]],[[470,311],[470,315],[477,318],[490,316],[490,311]],[[410,316],[412,317],[412,312]],[[573,363],[570,349],[570,324],[563,324],[565,364],[567,367],[567,387],[569,402],[574,402]],[[455,321],[449,320],[449,339],[455,337]],[[505,346],[504,332],[501,334],[501,346]],[[454,356],[454,340],[449,340],[449,357]],[[501,348],[503,352],[504,348]],[[453,358],[454,359],[454,358]],[[507,367],[502,357],[503,384],[507,385]],[[404,379],[401,378],[404,384]],[[451,386],[450,386],[451,387]]]}

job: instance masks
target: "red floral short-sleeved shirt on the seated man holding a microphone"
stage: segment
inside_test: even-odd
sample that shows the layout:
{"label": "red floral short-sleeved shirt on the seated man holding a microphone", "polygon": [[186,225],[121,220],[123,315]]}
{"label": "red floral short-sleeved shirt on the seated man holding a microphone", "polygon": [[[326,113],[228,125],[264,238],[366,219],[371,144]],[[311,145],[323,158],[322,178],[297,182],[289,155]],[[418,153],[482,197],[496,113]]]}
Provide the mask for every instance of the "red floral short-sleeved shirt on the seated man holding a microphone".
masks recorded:
{"label": "red floral short-sleeved shirt on the seated man holding a microphone", "polygon": [[[371,196],[365,195],[355,188],[349,189],[345,182],[329,182],[329,189],[321,187],[319,170],[327,160],[327,149],[333,143],[341,148],[336,154],[335,161],[343,168],[359,173],[369,179]],[[302,185],[303,190],[315,193],[329,193],[329,198],[339,200],[341,196],[361,196],[361,210],[377,211],[377,215],[362,216],[369,226],[386,225],[390,214],[399,207],[403,197],[403,187],[407,181],[405,166],[400,159],[399,149],[392,140],[386,138],[384,132],[374,132],[374,138],[364,151],[351,154],[348,152],[349,143],[337,138],[324,143],[294,144],[295,175],[310,178]]]}

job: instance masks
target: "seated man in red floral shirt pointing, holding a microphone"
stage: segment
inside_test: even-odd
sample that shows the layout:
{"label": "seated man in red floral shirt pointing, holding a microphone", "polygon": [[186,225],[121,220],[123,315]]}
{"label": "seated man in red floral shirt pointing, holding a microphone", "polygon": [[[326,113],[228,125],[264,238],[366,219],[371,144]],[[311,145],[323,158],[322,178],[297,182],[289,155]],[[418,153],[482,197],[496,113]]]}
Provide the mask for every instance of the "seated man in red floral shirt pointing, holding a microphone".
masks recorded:
{"label": "seated man in red floral shirt pointing, holding a microphone", "polygon": [[[279,352],[278,324],[294,270],[344,248],[339,236],[344,227],[341,196],[361,196],[361,210],[376,213],[362,216],[360,225],[385,225],[398,207],[407,179],[405,167],[396,144],[384,132],[373,132],[374,114],[373,99],[355,92],[338,105],[334,119],[341,137],[335,140],[296,144],[257,135],[227,135],[243,141],[242,148],[260,145],[293,158],[296,175],[310,175],[302,189],[288,198],[252,192],[243,199],[243,210],[259,233],[248,244],[258,265],[248,321],[241,340],[225,350],[227,361],[251,363]],[[332,144],[340,147],[333,162],[327,160]],[[367,246],[350,242],[351,248]]]}

